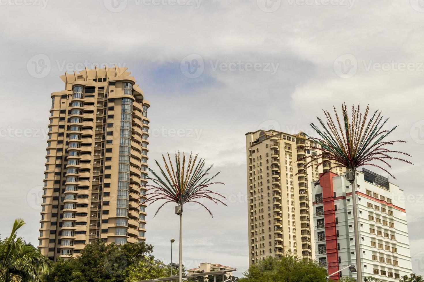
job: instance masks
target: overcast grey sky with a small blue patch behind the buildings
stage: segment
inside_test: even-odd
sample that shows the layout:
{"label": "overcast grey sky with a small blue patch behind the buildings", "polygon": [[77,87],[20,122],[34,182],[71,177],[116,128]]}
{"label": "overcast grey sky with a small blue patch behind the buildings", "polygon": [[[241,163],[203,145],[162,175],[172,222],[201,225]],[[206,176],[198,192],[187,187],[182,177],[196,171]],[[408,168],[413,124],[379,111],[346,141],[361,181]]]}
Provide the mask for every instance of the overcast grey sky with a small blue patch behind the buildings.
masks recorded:
{"label": "overcast grey sky with a small blue patch behind the buildings", "polygon": [[[267,1],[267,2],[265,2]],[[420,2],[421,1],[421,2]],[[37,245],[50,93],[59,76],[128,67],[151,101],[150,161],[194,151],[222,171],[228,208],[184,213],[184,261],[248,267],[245,133],[310,132],[321,109],[370,104],[399,125],[414,165],[393,163],[404,189],[413,268],[424,273],[423,0],[0,0],[0,233],[17,217]],[[22,132],[23,131],[23,132]],[[178,134],[176,134],[176,132]],[[368,167],[369,168],[369,167]],[[378,172],[378,171],[377,171]],[[147,242],[170,258],[173,205]],[[178,244],[175,244],[177,257]]]}

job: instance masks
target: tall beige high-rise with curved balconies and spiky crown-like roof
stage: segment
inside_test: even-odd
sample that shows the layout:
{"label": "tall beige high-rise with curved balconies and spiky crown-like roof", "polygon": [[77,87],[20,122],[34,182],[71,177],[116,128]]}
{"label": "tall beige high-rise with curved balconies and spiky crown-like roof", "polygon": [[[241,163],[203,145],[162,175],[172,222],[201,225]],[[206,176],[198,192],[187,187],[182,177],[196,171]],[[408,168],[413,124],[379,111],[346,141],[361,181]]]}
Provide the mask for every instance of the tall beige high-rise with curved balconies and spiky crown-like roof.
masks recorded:
{"label": "tall beige high-rise with curved balconies and spiky crown-like roof", "polygon": [[145,241],[150,103],[127,68],[61,76],[51,94],[39,246],[76,256],[97,239]]}

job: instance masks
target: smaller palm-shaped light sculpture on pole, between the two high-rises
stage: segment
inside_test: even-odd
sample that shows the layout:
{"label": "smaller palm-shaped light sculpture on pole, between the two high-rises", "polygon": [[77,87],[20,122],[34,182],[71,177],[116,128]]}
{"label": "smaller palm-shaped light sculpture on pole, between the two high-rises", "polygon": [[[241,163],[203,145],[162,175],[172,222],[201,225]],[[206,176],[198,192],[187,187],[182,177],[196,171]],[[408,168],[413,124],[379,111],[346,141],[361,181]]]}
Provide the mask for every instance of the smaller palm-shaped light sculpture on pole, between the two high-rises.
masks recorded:
{"label": "smaller palm-shaped light sculpture on pole, between the two high-rises", "polygon": [[[225,197],[221,194],[213,192],[209,189],[209,186],[213,184],[224,184],[222,182],[212,182],[212,180],[220,173],[209,177],[209,170],[211,170],[213,164],[210,167],[205,167],[205,159],[198,159],[196,154],[193,158],[190,153],[190,158],[186,160],[186,154],[183,153],[182,159],[180,152],[175,154],[175,163],[171,161],[169,153],[167,154],[168,159],[162,155],[164,161],[165,170],[156,162],[159,167],[159,173],[155,173],[149,168],[149,171],[153,174],[150,177],[153,181],[153,185],[147,185],[149,188],[146,193],[146,203],[155,203],[157,201],[164,201],[159,206],[156,214],[159,210],[167,203],[177,203],[175,207],[175,213],[180,216],[180,246],[179,246],[179,282],[182,281],[182,215],[183,205],[185,203],[197,203],[206,209],[211,216],[212,212],[203,203],[200,202],[202,199],[211,200],[213,203],[222,203],[226,205],[223,200]],[[159,176],[162,175],[162,176]],[[222,198],[223,200],[220,200]],[[155,216],[156,216],[155,214]]]}

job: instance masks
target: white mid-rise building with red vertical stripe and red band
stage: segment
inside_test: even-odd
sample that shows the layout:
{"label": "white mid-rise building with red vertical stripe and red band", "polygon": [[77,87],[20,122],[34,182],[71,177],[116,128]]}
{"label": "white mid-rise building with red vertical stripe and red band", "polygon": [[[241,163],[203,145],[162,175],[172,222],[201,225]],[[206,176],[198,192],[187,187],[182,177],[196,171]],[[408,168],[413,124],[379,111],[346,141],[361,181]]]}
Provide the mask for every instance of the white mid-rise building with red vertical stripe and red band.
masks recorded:
{"label": "white mid-rise building with red vertical stripe and red band", "polygon": [[[403,190],[365,169],[356,179],[363,277],[399,281],[412,273]],[[316,260],[329,274],[356,265],[350,183],[345,175],[327,172],[312,193]],[[346,269],[331,278],[339,277],[356,274]]]}

